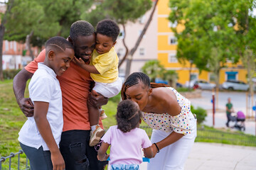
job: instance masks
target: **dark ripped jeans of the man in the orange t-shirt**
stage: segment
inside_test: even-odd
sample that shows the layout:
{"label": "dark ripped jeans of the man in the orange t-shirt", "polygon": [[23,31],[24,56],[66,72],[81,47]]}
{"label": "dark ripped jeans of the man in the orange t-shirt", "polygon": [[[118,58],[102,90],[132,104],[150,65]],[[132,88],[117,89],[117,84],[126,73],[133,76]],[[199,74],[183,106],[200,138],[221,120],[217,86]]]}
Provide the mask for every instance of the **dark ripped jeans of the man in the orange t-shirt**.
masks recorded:
{"label": "dark ripped jeans of the man in the orange t-shirt", "polygon": [[95,147],[89,146],[90,130],[69,130],[62,132],[60,152],[66,170],[102,170],[108,162],[97,159]]}

